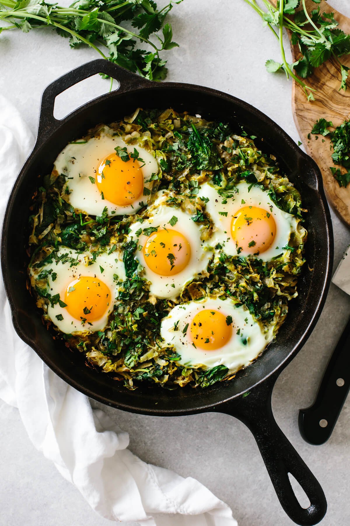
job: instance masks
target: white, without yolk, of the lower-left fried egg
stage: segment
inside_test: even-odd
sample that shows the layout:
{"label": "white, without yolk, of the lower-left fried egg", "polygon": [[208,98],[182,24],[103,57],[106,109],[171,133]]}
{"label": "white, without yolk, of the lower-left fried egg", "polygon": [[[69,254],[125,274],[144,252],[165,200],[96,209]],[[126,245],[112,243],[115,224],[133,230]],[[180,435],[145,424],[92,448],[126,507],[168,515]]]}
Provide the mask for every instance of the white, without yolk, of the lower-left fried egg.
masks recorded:
{"label": "white, without yolk, of the lower-left fried egg", "polygon": [[[119,284],[125,280],[125,271],[121,255],[115,250],[110,255],[106,253],[100,254],[96,257],[96,260],[93,260],[91,252],[78,252],[67,247],[60,248],[56,254],[57,257],[62,257],[62,255],[67,254],[72,260],[67,262],[59,260],[56,262],[55,259],[52,259],[52,263],[47,263],[39,269],[35,267],[31,267],[30,269],[30,276],[34,277],[34,279],[38,279],[40,272],[52,270],[48,275],[48,292],[51,296],[59,294],[60,299],[63,301],[65,289],[72,280],[79,278],[79,276],[92,276],[103,281],[104,284],[109,287],[111,298],[108,310],[100,319],[90,321],[91,325],[89,325],[88,322],[83,322],[81,319],[77,320],[73,318],[67,308],[60,307],[58,303],[52,307],[48,305],[48,318],[58,329],[66,334],[103,330],[107,326],[108,317],[118,298]],[[77,262],[72,262],[73,260]],[[90,265],[88,265],[89,262],[91,263]],[[100,267],[102,267],[103,271],[101,271]],[[57,274],[56,279],[52,279],[52,273]],[[118,279],[114,279],[114,275],[118,276]],[[56,316],[59,315],[63,317],[62,320],[56,318]]]}

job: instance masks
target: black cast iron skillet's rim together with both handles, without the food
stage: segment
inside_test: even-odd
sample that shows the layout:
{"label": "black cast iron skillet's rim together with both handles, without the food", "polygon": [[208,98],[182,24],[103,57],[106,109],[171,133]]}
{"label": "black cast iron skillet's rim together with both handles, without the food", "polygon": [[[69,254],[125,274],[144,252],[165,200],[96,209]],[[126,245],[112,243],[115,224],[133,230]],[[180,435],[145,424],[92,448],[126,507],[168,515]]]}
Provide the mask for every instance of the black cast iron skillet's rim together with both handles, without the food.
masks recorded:
{"label": "black cast iron skillet's rim together with both handles, without the food", "polygon": [[[120,88],[115,92],[102,95],[97,99],[92,100],[91,102],[83,105],[82,107],[72,112],[70,115],[58,121],[53,116],[53,109],[55,103],[55,97],[63,92],[65,89],[70,86],[80,82],[84,78],[88,78],[91,75],[96,73],[105,73],[110,75],[117,80],[120,80]],[[8,229],[8,218],[9,213],[13,209],[16,203],[16,196],[18,189],[22,184],[23,179],[25,178],[26,171],[28,166],[30,166],[31,161],[40,155],[40,147],[45,144],[45,141],[53,133],[57,131],[60,126],[66,124],[72,119],[79,118],[80,112],[83,109],[88,109],[94,104],[97,104],[103,100],[108,99],[109,97],[118,97],[118,94],[128,92],[128,94],[137,94],[137,91],[142,89],[152,88],[152,90],[162,90],[167,88],[172,89],[181,89],[188,92],[198,92],[201,94],[207,94],[220,98],[221,100],[227,100],[228,103],[234,103],[241,109],[245,110],[247,114],[251,114],[260,120],[260,122],[270,129],[277,131],[277,133],[283,138],[283,141],[288,147],[293,150],[295,157],[300,161],[303,161],[304,166],[308,167],[315,176],[315,190],[319,194],[320,204],[322,206],[322,215],[325,220],[325,232],[327,235],[327,246],[326,246],[326,265],[324,268],[324,282],[323,287],[319,295],[319,299],[313,307],[313,314],[310,318],[309,325],[305,328],[302,336],[299,341],[294,345],[293,349],[289,354],[275,367],[270,371],[266,376],[257,381],[253,386],[249,388],[250,396],[242,397],[245,391],[237,393],[234,396],[229,396],[222,398],[218,403],[207,403],[202,404],[201,406],[196,406],[191,409],[177,409],[176,407],[171,410],[157,410],[157,409],[140,409],[136,406],[131,406],[129,403],[118,402],[115,403],[112,400],[99,396],[98,393],[92,392],[89,388],[81,386],[78,382],[70,378],[65,372],[61,371],[53,361],[49,360],[45,356],[44,352],[40,349],[38,345],[34,345],[33,340],[26,335],[25,331],[20,327],[20,322],[18,319],[18,312],[16,310],[15,299],[12,295],[12,287],[10,286],[10,275],[7,267],[7,245],[6,245],[6,232]],[[258,443],[258,447],[262,454],[263,460],[266,463],[266,467],[269,471],[271,481],[274,485],[275,491],[277,492],[278,498],[282,504],[284,510],[288,513],[289,517],[296,523],[301,525],[312,525],[319,522],[326,512],[327,504],[325,501],[324,493],[320,484],[317,482],[309,468],[299,457],[298,453],[289,443],[288,439],[281,432],[279,427],[274,421],[272,410],[271,410],[271,393],[275,380],[279,376],[279,373],[282,369],[288,365],[291,359],[295,354],[301,349],[304,345],[307,338],[310,336],[312,329],[314,328],[317,319],[320,316],[322,307],[325,302],[326,292],[330,284],[331,278],[331,261],[333,255],[333,234],[331,227],[331,217],[328,207],[326,205],[325,195],[322,186],[322,177],[317,165],[314,161],[304,154],[292,141],[292,139],[285,134],[285,132],[275,124],[269,117],[261,113],[256,108],[253,108],[246,102],[241,101],[240,99],[227,95],[225,93],[219,92],[215,89],[210,89],[202,86],[191,85],[191,84],[182,84],[182,83],[162,83],[156,84],[151,83],[149,80],[142,79],[139,76],[136,76],[126,70],[115,66],[106,60],[94,60],[93,62],[84,64],[83,66],[73,70],[72,72],[63,75],[57,81],[50,84],[43,93],[43,98],[41,99],[41,111],[39,118],[39,127],[38,127],[38,138],[34,146],[33,152],[30,154],[27,163],[21,170],[12,193],[10,195],[8,205],[7,205],[7,214],[5,215],[3,230],[2,230],[2,269],[4,275],[4,282],[6,293],[9,299],[10,308],[12,310],[13,322],[16,332],[19,337],[22,338],[30,347],[32,347],[39,357],[52,369],[54,372],[65,380],[69,385],[83,392],[87,396],[98,400],[109,406],[126,410],[129,412],[136,412],[142,414],[149,414],[154,416],[181,416],[186,414],[194,414],[198,412],[208,412],[208,411],[219,411],[227,414],[231,414],[236,418],[239,418],[244,422],[249,429],[252,431],[254,438]],[[222,393],[224,395],[225,386],[221,386]],[[301,484],[302,488],[308,495],[311,505],[307,509],[301,508],[298,500],[294,495],[294,492],[291,488],[290,481],[288,479],[288,473],[293,474],[296,480]]]}

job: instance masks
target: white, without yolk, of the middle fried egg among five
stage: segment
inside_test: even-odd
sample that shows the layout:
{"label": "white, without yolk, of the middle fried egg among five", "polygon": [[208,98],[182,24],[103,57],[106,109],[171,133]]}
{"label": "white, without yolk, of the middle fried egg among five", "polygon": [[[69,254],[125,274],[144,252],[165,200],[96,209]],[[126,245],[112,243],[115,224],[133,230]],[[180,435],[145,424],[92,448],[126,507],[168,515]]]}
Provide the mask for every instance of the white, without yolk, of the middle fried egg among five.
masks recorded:
{"label": "white, without yolk, of the middle fried egg among five", "polygon": [[[167,196],[162,195],[161,192],[157,194],[154,205],[150,210],[150,218],[145,219],[143,222],[136,221],[131,225],[128,240],[137,241],[139,248],[136,249],[135,255],[144,267],[145,278],[150,282],[150,293],[158,298],[175,298],[189,281],[200,276],[201,272],[206,270],[209,259],[213,257],[213,254],[206,249],[204,241],[200,240],[200,228],[192,220],[192,216],[183,212],[180,208],[166,206],[166,198]],[[177,218],[177,222],[174,226],[171,226],[169,221],[173,216]],[[143,247],[148,236],[143,233],[143,229],[151,226],[177,230],[188,240],[191,248],[190,260],[186,268],[178,272],[178,274],[161,276],[147,266]],[[142,234],[136,236],[135,232],[140,229],[142,229]]]}

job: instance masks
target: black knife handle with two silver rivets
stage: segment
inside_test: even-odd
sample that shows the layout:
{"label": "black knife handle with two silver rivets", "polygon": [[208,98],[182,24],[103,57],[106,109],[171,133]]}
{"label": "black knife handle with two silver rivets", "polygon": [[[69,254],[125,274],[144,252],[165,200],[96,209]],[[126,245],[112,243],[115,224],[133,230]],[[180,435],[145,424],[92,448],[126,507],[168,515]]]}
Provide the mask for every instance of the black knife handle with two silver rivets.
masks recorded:
{"label": "black knife handle with two silver rivets", "polygon": [[301,436],[310,444],[330,438],[350,389],[350,319],[324,372],[316,400],[299,411]]}

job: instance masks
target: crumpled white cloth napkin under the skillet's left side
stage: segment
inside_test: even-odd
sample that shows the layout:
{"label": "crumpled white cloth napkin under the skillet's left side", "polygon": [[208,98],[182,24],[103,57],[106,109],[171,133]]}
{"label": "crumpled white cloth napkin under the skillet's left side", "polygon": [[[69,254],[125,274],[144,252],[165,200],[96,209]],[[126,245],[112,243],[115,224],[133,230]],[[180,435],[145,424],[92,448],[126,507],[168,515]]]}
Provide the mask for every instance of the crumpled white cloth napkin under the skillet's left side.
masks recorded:
{"label": "crumpled white cloth napkin under the skillet's left side", "polygon": [[[34,137],[0,95],[0,216]],[[25,210],[20,210],[25,213]],[[16,335],[0,281],[0,398],[19,410],[30,440],[91,508],[140,526],[237,526],[227,504],[197,480],[151,466],[128,449],[129,435],[68,386]],[[147,417],[145,417],[147,418]]]}

